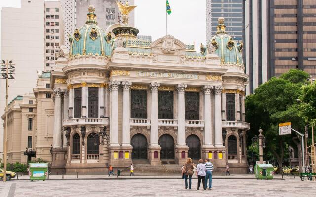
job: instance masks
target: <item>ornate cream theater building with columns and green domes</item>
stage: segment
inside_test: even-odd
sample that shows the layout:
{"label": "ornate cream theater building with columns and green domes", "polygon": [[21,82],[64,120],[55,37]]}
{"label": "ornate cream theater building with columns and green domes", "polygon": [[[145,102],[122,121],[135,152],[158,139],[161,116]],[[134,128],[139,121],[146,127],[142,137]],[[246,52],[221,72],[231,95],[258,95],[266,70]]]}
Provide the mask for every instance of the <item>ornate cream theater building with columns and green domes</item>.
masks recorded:
{"label": "ornate cream theater building with columns and green domes", "polygon": [[31,149],[24,152],[20,140],[9,162],[36,154],[52,171],[91,174],[137,160],[160,166],[208,157],[217,168],[246,173],[248,76],[242,44],[226,33],[224,18],[196,52],[171,35],[137,39],[124,7],[123,24],[106,31],[88,10],[86,24],[69,36],[70,50],[61,47],[54,71],[39,75]]}

